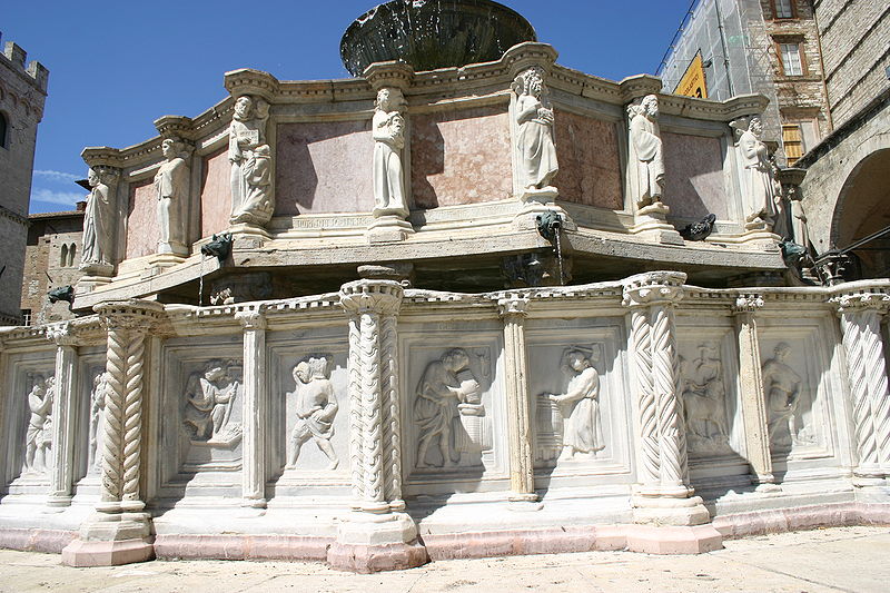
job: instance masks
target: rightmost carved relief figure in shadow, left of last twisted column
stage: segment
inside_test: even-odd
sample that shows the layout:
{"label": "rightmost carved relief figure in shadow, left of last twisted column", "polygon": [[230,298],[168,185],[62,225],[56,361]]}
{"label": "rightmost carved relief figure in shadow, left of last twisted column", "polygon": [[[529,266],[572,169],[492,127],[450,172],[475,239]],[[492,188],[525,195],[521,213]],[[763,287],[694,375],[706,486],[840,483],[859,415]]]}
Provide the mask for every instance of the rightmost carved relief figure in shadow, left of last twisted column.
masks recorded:
{"label": "rightmost carved relief figure in shadow, left of last twisted column", "polygon": [[763,365],[763,391],[769,409],[770,443],[791,446],[797,436],[794,413],[803,380],[785,362],[791,346],[782,342],[773,349],[773,357]]}

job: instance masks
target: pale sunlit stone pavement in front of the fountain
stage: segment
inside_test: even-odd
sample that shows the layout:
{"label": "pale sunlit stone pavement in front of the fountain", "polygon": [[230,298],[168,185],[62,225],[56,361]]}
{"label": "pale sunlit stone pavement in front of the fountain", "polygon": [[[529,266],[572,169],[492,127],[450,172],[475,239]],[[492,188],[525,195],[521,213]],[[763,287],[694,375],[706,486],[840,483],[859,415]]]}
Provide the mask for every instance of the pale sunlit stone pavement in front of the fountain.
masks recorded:
{"label": "pale sunlit stone pavement in front of the fountain", "polygon": [[840,527],[726,542],[699,556],[592,552],[436,562],[357,575],[305,562],[150,562],[69,569],[60,556],[0,551],[0,591],[708,592],[888,591],[890,530]]}

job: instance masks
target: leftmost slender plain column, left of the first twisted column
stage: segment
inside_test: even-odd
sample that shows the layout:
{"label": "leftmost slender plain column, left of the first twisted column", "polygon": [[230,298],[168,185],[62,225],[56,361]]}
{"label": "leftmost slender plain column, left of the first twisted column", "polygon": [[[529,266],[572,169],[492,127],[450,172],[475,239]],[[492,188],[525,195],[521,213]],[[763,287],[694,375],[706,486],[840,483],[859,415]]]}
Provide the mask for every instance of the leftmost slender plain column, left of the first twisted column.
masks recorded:
{"label": "leftmost slender plain column, left of the first twisted column", "polygon": [[71,325],[61,323],[47,328],[47,338],[56,343],[56,382],[52,399],[52,471],[47,505],[71,504],[73,487],[73,409],[77,407],[77,340]]}

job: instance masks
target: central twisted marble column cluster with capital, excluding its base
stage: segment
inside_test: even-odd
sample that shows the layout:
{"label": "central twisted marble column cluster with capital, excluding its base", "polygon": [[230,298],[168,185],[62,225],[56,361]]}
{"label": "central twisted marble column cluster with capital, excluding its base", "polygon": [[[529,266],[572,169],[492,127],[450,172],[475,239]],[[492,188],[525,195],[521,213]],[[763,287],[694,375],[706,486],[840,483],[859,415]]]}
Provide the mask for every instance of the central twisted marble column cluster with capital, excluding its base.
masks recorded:
{"label": "central twisted marble column cluster with capital, excluding its base", "polygon": [[368,513],[404,508],[396,332],[402,294],[392,280],[358,280],[340,288],[349,316],[354,506]]}

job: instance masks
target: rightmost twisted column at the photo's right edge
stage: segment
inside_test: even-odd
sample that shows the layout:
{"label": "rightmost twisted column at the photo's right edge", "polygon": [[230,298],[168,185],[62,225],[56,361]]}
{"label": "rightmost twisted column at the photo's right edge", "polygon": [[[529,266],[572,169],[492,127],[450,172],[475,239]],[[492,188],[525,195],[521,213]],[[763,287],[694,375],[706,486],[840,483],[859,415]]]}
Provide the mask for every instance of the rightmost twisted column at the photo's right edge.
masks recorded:
{"label": "rightmost twisted column at the photo's right edge", "polygon": [[890,295],[866,290],[841,294],[833,302],[840,315],[853,408],[853,482],[873,485],[890,474],[890,394],[881,336],[881,317],[890,308]]}

